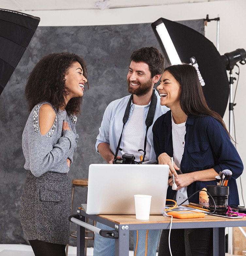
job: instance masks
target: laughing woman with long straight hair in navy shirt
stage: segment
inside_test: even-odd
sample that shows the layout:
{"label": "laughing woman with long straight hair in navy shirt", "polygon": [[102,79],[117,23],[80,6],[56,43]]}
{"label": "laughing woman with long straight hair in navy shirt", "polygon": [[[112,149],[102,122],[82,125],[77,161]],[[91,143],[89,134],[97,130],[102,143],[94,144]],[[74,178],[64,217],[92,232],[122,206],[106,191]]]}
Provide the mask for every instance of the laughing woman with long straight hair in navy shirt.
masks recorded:
{"label": "laughing woman with long straight hair in navy shirt", "polygon": [[[230,169],[228,204],[238,205],[236,179],[243,171],[243,164],[221,116],[207,106],[196,69],[188,64],[167,67],[157,89],[161,105],[170,108],[153,126],[156,160],[158,164],[170,166],[169,174],[174,174],[177,185],[177,189],[172,190],[172,178],[169,179],[167,199],[175,199],[180,204],[207,185],[216,185],[215,176]],[[199,193],[189,202],[199,203]],[[162,231],[160,256],[170,255],[168,233],[169,230]],[[212,255],[212,240],[211,228],[174,229],[171,231],[172,255]]]}

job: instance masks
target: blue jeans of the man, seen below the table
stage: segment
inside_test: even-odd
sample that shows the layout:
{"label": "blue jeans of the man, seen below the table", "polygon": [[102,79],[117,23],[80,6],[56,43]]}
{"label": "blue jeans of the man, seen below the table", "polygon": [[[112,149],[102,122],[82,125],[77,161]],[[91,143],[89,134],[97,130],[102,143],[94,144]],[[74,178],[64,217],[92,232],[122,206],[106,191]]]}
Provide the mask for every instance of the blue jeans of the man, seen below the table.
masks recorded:
{"label": "blue jeans of the man, seen below the table", "polygon": [[[100,229],[112,230],[109,226],[97,222],[96,226]],[[136,256],[145,256],[147,230],[138,230],[138,245]],[[157,243],[159,240],[160,229],[148,231],[147,254],[146,256],[155,256]],[[134,255],[137,242],[137,231],[133,231],[134,237]],[[93,256],[114,256],[114,239],[102,237],[95,234]]]}

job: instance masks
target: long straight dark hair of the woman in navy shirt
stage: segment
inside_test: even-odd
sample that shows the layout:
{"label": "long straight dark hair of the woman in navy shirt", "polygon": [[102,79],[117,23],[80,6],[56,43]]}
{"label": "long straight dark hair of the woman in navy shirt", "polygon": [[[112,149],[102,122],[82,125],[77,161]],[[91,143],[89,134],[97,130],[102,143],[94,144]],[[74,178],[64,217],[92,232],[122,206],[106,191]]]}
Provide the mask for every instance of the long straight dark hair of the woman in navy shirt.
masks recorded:
{"label": "long straight dark hair of the woman in navy shirt", "polygon": [[[180,107],[187,115],[212,116],[221,123],[230,136],[221,116],[211,110],[204,97],[196,69],[189,64],[172,65],[164,69],[181,85]],[[230,136],[232,139],[232,137]]]}

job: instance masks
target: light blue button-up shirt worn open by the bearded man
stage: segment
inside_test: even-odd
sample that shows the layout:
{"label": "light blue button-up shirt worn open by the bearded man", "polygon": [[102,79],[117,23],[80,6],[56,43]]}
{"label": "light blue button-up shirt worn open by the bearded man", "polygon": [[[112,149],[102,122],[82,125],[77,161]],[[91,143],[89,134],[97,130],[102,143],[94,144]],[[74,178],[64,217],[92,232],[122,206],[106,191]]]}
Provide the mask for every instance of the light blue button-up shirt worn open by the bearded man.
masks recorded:
{"label": "light blue button-up shirt worn open by the bearded man", "polygon": [[[154,151],[153,147],[153,133],[152,133],[152,126],[155,123],[156,119],[161,116],[162,114],[166,113],[169,108],[166,106],[161,106],[160,105],[160,96],[155,90],[156,96],[157,96],[157,103],[156,103],[156,112],[154,116],[154,120],[152,125],[149,127],[148,132],[147,132],[147,142],[151,145],[151,150],[150,150],[150,155],[149,155],[149,163],[156,162],[156,154]],[[123,127],[123,116],[125,113],[125,108],[127,106],[127,103],[129,101],[130,95],[125,96],[121,99],[112,101],[109,103],[107,106],[104,115],[103,115],[103,121],[101,123],[101,127],[99,128],[99,134],[97,136],[97,141],[96,141],[96,150],[98,152],[98,145],[100,143],[108,143],[110,145],[110,149],[113,154],[115,154],[116,148],[119,143],[119,139],[121,136],[121,131]],[[146,125],[145,125],[145,119],[148,114],[148,110],[150,107],[150,103],[146,105],[144,108],[144,136],[146,133]],[[134,109],[134,104],[131,103],[130,107],[130,113],[129,113],[129,118],[124,126],[124,129],[126,128],[131,116],[132,112]],[[124,132],[124,130],[123,130]],[[133,145],[134,147],[134,145]],[[99,152],[98,152],[99,153]],[[131,154],[131,152],[128,152]],[[121,156],[121,151],[119,151],[119,156]]]}

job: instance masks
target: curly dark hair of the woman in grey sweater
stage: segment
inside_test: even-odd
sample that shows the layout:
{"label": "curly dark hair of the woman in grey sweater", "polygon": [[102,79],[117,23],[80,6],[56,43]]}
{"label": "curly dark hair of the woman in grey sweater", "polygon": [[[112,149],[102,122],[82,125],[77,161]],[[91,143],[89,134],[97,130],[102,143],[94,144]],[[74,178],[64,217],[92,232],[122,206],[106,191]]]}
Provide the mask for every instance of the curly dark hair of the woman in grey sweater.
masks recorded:
{"label": "curly dark hair of the woman in grey sweater", "polygon": [[[25,99],[29,112],[36,104],[43,101],[50,102],[58,111],[61,106],[65,106],[65,95],[68,88],[65,85],[65,74],[67,70],[78,62],[83,75],[87,78],[87,68],[85,61],[78,55],[69,52],[51,53],[44,56],[31,71],[25,86]],[[88,88],[89,84],[87,83]],[[66,111],[71,114],[80,113],[82,97],[75,97],[69,100]]]}

